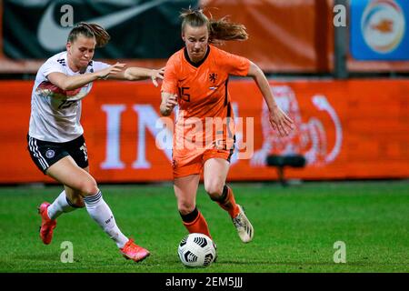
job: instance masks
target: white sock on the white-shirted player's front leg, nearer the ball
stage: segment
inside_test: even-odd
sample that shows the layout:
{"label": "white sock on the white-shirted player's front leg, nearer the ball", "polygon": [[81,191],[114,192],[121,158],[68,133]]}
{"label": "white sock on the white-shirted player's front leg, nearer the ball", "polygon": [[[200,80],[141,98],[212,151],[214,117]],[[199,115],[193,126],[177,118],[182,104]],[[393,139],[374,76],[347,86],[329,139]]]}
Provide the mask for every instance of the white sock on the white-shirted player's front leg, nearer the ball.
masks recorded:
{"label": "white sock on the white-shirted player's front leg, nearer the ball", "polygon": [[88,214],[115,241],[116,246],[119,248],[124,247],[128,238],[116,226],[115,217],[109,206],[105,203],[101,191],[94,196],[86,196],[84,202]]}

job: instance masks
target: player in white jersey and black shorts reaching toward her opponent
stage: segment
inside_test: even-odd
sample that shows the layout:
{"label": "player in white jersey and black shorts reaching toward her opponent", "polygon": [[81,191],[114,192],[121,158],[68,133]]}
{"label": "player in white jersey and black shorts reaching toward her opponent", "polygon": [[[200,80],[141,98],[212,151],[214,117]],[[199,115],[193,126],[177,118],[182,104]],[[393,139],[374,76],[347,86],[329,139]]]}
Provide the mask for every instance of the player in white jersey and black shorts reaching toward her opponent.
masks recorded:
{"label": "player in white jersey and black shorts reaching toward her opponent", "polygon": [[47,176],[64,185],[52,204],[39,206],[42,217],[40,237],[51,243],[56,218],[84,207],[95,222],[111,237],[120,253],[135,262],[150,253],[126,237],[111,209],[89,174],[84,130],[80,124],[81,100],[99,79],[143,80],[163,78],[164,70],[107,65],[92,60],[95,47],[106,45],[109,35],[95,24],[75,25],[68,35],[66,51],[50,57],[35,76],[31,99],[28,150],[35,165]]}

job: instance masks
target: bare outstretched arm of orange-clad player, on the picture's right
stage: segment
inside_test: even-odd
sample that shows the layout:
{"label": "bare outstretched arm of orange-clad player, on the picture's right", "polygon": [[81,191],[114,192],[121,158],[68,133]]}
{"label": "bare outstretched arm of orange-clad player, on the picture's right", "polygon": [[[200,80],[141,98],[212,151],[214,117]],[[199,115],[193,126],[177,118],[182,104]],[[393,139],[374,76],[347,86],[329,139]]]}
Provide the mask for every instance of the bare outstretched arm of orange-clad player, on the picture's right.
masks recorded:
{"label": "bare outstretched arm of orange-clad player, on the picture's right", "polygon": [[249,76],[254,78],[255,83],[264,96],[265,103],[270,111],[269,119],[273,129],[278,131],[281,136],[289,135],[291,130],[294,129],[294,122],[291,118],[284,113],[284,111],[275,103],[273,93],[271,92],[270,85],[263,71],[250,62],[250,68],[248,70]]}

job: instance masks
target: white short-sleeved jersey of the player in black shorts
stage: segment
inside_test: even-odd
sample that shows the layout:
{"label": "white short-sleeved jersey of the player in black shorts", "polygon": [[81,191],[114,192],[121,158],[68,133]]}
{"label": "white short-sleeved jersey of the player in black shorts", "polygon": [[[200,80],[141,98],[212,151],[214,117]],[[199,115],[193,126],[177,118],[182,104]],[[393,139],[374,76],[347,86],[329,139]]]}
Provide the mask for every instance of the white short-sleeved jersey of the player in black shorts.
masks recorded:
{"label": "white short-sleeved jersey of the player in black shorts", "polygon": [[[91,61],[84,74],[101,71],[108,66],[105,63]],[[69,68],[66,52],[50,57],[39,68],[31,94],[28,134],[43,141],[65,143],[84,133],[80,124],[81,99],[91,91],[93,83],[64,91],[48,81],[47,75],[54,72],[65,75],[81,74]]]}

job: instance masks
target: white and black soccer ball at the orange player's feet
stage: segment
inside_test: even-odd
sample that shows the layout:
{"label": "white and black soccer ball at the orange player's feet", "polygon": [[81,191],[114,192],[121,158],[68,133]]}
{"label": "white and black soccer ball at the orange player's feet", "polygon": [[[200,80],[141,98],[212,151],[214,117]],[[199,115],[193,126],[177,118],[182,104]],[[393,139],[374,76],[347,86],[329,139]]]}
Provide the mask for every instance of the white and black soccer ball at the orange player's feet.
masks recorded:
{"label": "white and black soccer ball at the orange player's feet", "polygon": [[190,234],[184,237],[177,249],[185,266],[209,266],[216,256],[214,243],[204,234]]}

